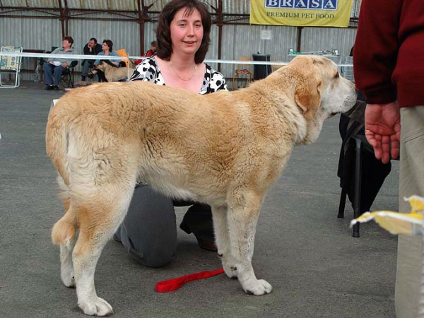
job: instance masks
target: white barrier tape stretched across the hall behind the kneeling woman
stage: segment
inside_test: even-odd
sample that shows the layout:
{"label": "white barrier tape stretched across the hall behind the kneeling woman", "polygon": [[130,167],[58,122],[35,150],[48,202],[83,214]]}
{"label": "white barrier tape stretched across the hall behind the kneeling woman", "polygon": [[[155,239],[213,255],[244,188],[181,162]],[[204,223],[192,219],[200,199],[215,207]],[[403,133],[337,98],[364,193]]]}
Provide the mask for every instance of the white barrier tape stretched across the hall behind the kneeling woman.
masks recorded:
{"label": "white barrier tape stretched across the hall behind the kneeling woman", "polygon": [[[1,52],[1,56],[6,57],[41,57],[51,60],[52,58],[59,59],[146,59],[146,57],[110,57],[102,55],[83,55],[83,54],[47,54],[47,53],[15,53],[15,52]],[[230,59],[205,59],[206,63],[218,64],[246,64],[246,65],[287,65],[288,61],[240,61]],[[353,64],[337,64],[340,67],[353,67]]]}

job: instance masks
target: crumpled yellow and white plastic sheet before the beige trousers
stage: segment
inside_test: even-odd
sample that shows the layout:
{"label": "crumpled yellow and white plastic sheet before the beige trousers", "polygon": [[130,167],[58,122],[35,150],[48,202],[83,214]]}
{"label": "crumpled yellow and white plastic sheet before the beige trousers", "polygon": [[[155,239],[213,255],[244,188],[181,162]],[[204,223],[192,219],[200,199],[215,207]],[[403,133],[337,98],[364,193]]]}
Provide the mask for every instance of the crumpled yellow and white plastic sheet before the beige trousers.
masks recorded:
{"label": "crumpled yellow and white plastic sheet before the beige trousers", "polygon": [[375,220],[391,234],[421,235],[423,233],[424,198],[410,196],[404,198],[411,204],[411,213],[399,213],[394,211],[375,211],[363,213],[359,218],[351,221],[351,227],[356,223],[365,223]]}

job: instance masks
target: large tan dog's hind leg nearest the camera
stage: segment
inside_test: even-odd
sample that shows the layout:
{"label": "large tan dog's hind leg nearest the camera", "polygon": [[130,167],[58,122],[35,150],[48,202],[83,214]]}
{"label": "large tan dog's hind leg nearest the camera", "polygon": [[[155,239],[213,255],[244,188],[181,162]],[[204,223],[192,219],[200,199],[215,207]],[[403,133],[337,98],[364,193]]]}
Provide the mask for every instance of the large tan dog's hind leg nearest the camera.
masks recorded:
{"label": "large tan dog's hind leg nearest the camera", "polygon": [[102,187],[93,201],[78,207],[80,229],[72,256],[78,305],[85,314],[107,316],[113,312],[95,291],[95,266],[107,240],[124,219],[133,191],[134,186],[124,192],[117,185]]}

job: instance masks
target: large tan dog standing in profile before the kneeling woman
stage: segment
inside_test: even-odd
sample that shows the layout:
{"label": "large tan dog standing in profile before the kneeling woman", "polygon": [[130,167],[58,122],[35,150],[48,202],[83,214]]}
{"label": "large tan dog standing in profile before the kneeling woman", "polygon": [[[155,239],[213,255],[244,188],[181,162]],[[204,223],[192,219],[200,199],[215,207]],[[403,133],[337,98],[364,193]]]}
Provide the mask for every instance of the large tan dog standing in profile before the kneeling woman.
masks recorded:
{"label": "large tan dog standing in profile before the kneeling woman", "polygon": [[141,81],[66,93],[47,123],[47,154],[66,211],[52,240],[61,249],[61,279],[76,285],[81,309],[112,313],[95,292],[95,266],[137,179],[167,196],[210,204],[225,273],[246,293],[270,293],[252,268],[262,200],[293,146],[315,141],[324,119],[349,110],[355,98],[334,62],[305,56],[231,93],[198,95]]}

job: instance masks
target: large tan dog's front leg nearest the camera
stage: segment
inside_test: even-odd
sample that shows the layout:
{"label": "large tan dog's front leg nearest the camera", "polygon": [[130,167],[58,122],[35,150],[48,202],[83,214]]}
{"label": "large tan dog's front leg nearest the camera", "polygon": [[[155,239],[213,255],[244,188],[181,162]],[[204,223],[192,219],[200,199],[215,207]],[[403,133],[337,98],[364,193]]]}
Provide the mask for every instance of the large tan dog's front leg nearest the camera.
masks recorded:
{"label": "large tan dog's front leg nearest the camera", "polygon": [[233,196],[228,202],[228,230],[237,278],[245,292],[253,295],[264,295],[272,290],[267,281],[256,278],[252,267],[254,235],[262,199],[245,192]]}

